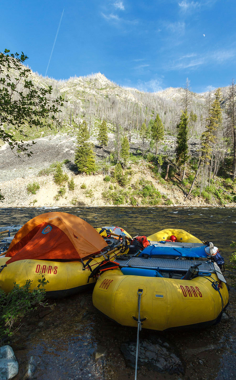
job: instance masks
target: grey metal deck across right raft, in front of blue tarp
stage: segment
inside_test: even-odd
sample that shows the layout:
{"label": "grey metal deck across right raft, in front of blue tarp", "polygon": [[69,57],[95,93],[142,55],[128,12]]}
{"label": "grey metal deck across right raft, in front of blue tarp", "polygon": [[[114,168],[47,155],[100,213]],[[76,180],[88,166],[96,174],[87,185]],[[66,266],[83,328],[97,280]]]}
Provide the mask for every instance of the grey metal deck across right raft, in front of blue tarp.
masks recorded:
{"label": "grey metal deck across right raft, in front of blue tarp", "polygon": [[157,271],[174,271],[174,272],[187,272],[191,265],[201,263],[199,267],[200,272],[214,272],[214,266],[212,263],[200,260],[172,260],[162,258],[143,258],[132,257],[124,263],[123,260],[116,259],[116,262],[120,264],[121,268],[142,268],[142,269],[154,269]]}

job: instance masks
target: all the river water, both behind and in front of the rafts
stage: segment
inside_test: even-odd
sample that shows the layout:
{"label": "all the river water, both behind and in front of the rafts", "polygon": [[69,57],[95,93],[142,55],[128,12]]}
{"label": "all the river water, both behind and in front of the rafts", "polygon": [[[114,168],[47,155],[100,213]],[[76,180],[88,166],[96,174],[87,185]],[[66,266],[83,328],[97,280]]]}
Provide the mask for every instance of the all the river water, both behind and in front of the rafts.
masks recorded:
{"label": "all the river water, both behind and in front of the rafts", "polygon": [[[24,223],[45,212],[63,211],[85,219],[94,227],[118,225],[131,236],[167,227],[190,231],[212,241],[229,262],[235,239],[236,208],[195,207],[63,207],[2,208],[0,231],[16,233]],[[92,304],[92,291],[49,300],[51,307],[27,315],[10,339],[19,363],[15,380],[128,380],[134,369],[120,351],[124,342],[136,341],[136,328],[108,320]],[[158,373],[140,366],[138,380],[234,380],[236,378],[236,292],[230,292],[225,320],[203,330],[150,331],[140,338],[169,345],[184,366],[182,373]],[[7,342],[6,342],[7,343]],[[5,343],[5,344],[6,344]]]}

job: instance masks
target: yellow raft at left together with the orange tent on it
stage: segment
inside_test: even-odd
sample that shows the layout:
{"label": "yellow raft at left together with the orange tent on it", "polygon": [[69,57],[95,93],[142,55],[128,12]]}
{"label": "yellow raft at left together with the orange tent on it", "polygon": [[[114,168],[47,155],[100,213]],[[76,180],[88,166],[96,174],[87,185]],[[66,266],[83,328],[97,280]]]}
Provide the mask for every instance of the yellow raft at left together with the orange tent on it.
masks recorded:
{"label": "yellow raft at left together with the orange tent on it", "polygon": [[11,291],[14,282],[31,288],[45,276],[47,297],[62,297],[94,286],[90,276],[107,258],[128,252],[131,236],[122,228],[95,230],[89,223],[65,212],[49,212],[27,222],[0,257],[0,288]]}

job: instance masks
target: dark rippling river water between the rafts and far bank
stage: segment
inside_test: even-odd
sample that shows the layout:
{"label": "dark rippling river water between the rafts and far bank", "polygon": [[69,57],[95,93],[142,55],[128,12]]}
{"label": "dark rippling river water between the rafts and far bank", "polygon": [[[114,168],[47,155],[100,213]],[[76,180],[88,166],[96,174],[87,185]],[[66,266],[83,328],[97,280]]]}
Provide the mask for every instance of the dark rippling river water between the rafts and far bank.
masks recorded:
{"label": "dark rippling river water between the rafts and far bank", "polygon": [[232,252],[230,243],[236,240],[234,207],[9,207],[0,209],[0,231],[9,228],[16,233],[31,218],[52,211],[77,215],[93,227],[120,226],[131,236],[182,228],[203,241],[212,241],[226,260]]}

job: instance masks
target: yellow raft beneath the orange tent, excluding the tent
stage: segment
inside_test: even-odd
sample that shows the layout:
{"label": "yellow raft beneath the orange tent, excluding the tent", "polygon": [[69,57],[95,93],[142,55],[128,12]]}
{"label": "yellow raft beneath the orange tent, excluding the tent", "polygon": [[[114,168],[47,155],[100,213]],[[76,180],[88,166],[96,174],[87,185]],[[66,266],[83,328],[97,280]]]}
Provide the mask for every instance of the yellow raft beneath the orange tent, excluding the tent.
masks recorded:
{"label": "yellow raft beneath the orange tent, excluding the tent", "polygon": [[[119,234],[117,229],[119,231],[117,227],[114,232]],[[100,232],[101,228],[98,228],[97,231]],[[131,238],[123,229],[122,233]],[[106,236],[106,234],[101,233],[101,236]],[[113,240],[115,245],[119,245],[115,249],[115,252],[112,249],[111,252],[106,253],[105,248],[102,251],[104,252],[104,256],[102,253],[92,255],[90,258],[83,259],[83,263],[81,261],[25,259],[14,261],[4,268],[4,264],[9,260],[9,257],[2,256],[0,257],[0,288],[9,293],[13,288],[14,282],[22,286],[25,285],[27,279],[32,280],[31,288],[34,288],[38,285],[38,279],[41,278],[42,274],[49,281],[45,285],[46,295],[49,298],[65,297],[91,288],[94,286],[96,279],[89,279],[89,275],[91,274],[90,268],[92,270],[95,269],[107,255],[109,255],[111,261],[114,261],[117,256],[119,257],[128,252],[128,249],[122,250],[121,243],[119,244],[117,238],[111,237],[109,239]],[[89,266],[87,265],[88,262]]]}

